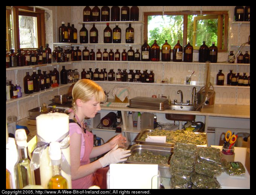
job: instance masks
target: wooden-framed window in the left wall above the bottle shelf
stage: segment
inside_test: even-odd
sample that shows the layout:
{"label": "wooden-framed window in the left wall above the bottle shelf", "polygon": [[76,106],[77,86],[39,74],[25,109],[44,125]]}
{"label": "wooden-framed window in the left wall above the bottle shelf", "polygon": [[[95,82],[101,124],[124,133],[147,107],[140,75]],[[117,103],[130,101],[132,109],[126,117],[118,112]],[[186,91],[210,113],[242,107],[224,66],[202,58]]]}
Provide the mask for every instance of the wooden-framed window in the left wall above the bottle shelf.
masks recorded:
{"label": "wooden-framed window in the left wall above the bottle shelf", "polygon": [[44,11],[6,6],[6,49],[37,49],[45,45]]}

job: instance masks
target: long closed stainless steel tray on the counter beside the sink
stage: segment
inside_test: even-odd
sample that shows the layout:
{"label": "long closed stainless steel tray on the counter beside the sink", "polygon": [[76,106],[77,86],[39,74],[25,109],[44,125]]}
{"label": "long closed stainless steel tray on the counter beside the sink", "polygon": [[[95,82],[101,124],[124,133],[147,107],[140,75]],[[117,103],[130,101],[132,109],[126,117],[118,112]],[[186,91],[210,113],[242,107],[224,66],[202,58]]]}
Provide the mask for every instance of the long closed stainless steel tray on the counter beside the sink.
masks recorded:
{"label": "long closed stainless steel tray on the counter beside the sink", "polygon": [[130,99],[129,107],[165,110],[169,107],[169,100],[165,98],[135,97]]}

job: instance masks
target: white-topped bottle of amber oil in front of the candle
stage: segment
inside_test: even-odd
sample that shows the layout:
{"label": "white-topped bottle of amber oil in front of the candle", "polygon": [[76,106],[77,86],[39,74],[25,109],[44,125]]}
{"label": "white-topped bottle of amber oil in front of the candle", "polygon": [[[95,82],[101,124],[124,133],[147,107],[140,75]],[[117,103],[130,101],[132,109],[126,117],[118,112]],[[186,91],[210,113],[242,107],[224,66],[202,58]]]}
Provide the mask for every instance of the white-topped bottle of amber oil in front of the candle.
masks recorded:
{"label": "white-topped bottle of amber oil in front of the candle", "polygon": [[67,189],[67,180],[61,175],[61,149],[59,142],[51,142],[49,156],[52,162],[52,178],[48,189]]}

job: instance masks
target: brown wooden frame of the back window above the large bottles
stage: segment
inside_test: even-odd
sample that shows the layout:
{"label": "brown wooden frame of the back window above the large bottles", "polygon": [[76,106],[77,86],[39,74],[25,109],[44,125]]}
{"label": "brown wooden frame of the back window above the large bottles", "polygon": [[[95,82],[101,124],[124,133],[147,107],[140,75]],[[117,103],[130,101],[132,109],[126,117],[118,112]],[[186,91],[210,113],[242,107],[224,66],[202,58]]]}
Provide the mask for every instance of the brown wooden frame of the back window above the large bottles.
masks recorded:
{"label": "brown wooden frame of the back window above the large bottles", "polygon": [[[221,41],[218,41],[218,51],[227,52],[228,51],[228,26],[229,26],[229,14],[228,11],[179,11],[179,12],[165,12],[165,15],[183,15],[183,46],[187,45],[187,16],[188,15],[218,15],[218,29],[223,26],[224,18],[224,33],[222,30],[218,30],[218,40],[223,37]],[[163,15],[163,12],[144,12],[144,40],[148,40],[148,16],[150,15]],[[194,43],[193,43],[194,44]],[[223,45],[223,47],[222,47]],[[221,49],[219,49],[221,48]],[[198,49],[194,49],[198,50]]]}

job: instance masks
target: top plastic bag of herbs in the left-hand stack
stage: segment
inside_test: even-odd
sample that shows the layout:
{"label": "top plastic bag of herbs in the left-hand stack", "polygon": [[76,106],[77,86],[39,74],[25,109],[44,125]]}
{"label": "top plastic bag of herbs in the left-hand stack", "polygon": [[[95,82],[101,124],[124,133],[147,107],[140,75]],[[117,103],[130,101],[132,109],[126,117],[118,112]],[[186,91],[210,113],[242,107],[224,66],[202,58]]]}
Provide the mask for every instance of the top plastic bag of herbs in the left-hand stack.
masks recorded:
{"label": "top plastic bag of herbs in the left-hand stack", "polygon": [[196,157],[197,146],[187,143],[175,143],[173,152],[176,157]]}

